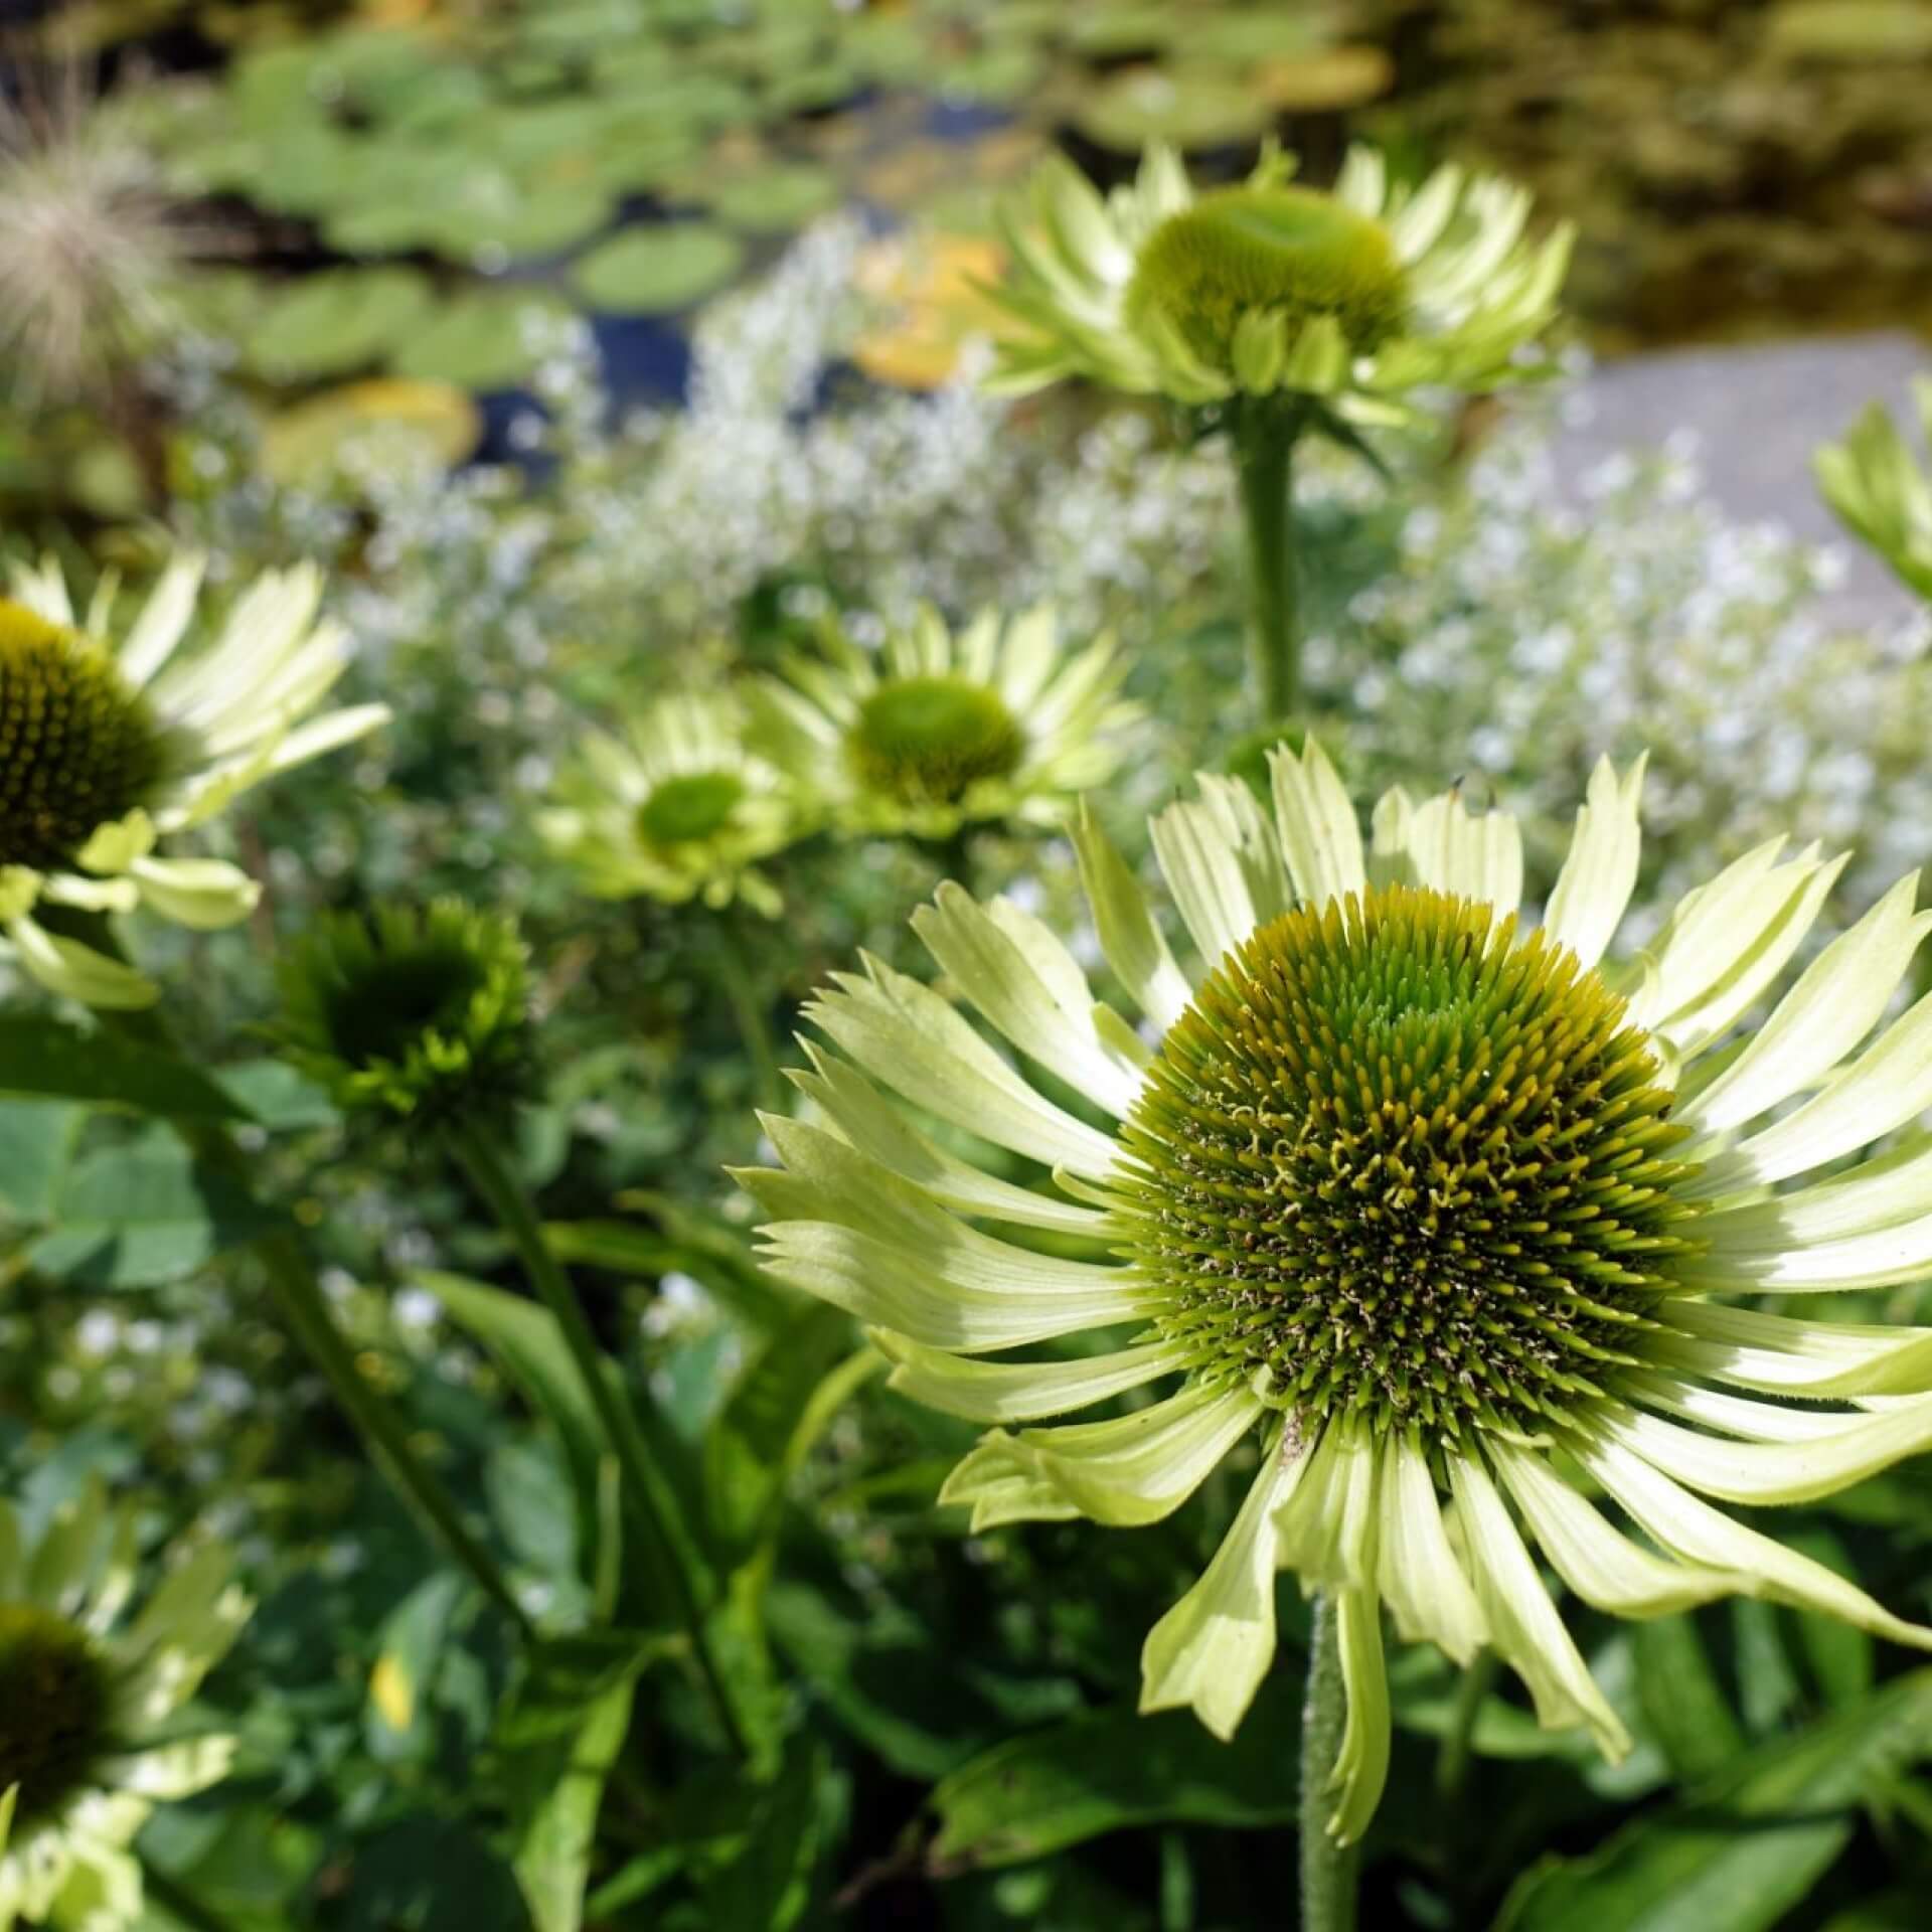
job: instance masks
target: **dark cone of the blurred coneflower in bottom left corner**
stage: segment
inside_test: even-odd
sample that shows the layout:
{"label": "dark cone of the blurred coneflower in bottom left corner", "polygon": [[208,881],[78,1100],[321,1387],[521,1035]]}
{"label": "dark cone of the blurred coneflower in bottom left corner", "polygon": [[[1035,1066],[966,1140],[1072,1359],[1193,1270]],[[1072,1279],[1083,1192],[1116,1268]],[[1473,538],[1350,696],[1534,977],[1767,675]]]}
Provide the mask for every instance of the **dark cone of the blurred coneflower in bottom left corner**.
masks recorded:
{"label": "dark cone of the blurred coneflower in bottom left corner", "polygon": [[108,1745],[108,1673],[87,1633],[33,1604],[0,1604],[0,1791],[17,1816],[70,1799]]}

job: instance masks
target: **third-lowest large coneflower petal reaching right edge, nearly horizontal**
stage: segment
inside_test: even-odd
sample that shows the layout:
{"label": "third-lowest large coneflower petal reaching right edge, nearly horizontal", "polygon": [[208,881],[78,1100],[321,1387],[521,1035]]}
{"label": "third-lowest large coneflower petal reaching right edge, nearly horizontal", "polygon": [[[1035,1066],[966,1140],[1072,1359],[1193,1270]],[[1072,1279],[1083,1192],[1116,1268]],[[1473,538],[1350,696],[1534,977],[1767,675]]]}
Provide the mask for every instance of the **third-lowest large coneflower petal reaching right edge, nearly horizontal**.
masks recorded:
{"label": "third-lowest large coneflower petal reaching right edge, nearly horizontal", "polygon": [[1671,1300],[1662,1320],[1690,1333],[1660,1335],[1652,1352],[1741,1389],[1820,1401],[1932,1393],[1932,1329],[1804,1321],[1685,1298]]}

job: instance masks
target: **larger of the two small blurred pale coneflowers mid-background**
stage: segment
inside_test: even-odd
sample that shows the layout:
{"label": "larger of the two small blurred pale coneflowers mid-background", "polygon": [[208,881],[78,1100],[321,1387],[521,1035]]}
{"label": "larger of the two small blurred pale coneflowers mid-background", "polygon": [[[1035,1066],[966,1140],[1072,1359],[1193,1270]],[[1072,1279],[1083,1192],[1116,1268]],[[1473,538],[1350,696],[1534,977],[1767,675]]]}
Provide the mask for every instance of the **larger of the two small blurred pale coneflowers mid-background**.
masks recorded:
{"label": "larger of the two small blurred pale coneflowers mid-background", "polygon": [[1068,651],[1049,607],[952,634],[923,609],[873,653],[825,630],[753,688],[767,742],[811,771],[854,833],[949,838],[989,819],[1053,823],[1105,781],[1142,711],[1109,636]]}

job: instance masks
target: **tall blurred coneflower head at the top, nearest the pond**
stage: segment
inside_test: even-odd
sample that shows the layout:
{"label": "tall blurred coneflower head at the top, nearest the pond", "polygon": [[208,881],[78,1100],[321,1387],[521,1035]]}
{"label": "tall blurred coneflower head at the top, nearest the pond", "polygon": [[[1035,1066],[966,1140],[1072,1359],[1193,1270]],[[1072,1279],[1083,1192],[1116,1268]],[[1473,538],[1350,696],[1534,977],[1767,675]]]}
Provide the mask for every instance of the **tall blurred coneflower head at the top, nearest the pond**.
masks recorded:
{"label": "tall blurred coneflower head at the top, nearest the pond", "polygon": [[1372,149],[1333,189],[1289,180],[1269,151],[1238,187],[1196,193],[1153,147],[1101,193],[1053,156],[1010,201],[1012,267],[993,290],[1018,325],[993,386],[1086,377],[1211,404],[1298,394],[1364,417],[1406,390],[1490,390],[1524,375],[1548,328],[1571,236],[1524,240],[1528,195],[1437,168],[1412,191]]}

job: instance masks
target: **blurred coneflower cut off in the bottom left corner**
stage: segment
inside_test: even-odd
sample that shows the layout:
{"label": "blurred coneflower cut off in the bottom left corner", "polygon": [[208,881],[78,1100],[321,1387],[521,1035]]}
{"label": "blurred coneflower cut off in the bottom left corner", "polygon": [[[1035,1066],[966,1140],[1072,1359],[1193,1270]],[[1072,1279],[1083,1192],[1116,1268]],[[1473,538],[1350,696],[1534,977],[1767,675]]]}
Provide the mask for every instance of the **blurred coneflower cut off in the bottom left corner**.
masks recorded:
{"label": "blurred coneflower cut off in the bottom left corner", "polygon": [[129,1841],[158,1799],[228,1772],[234,1739],[184,1735],[174,1714],[247,1621],[232,1557],[203,1544],[126,1619],[137,1571],[133,1517],[99,1490],[56,1513],[39,1544],[0,1503],[0,1793],[14,1791],[0,1928],[131,1926],[141,1866]]}

